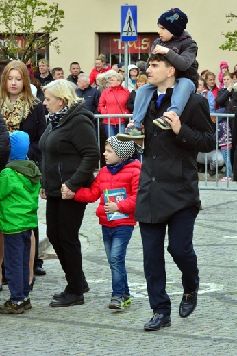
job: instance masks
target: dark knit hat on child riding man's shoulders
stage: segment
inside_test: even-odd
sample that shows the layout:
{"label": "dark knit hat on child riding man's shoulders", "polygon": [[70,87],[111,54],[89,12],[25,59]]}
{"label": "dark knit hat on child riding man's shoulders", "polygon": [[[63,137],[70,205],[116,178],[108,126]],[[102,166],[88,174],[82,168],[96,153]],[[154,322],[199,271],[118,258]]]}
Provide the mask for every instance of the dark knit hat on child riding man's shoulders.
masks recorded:
{"label": "dark knit hat on child riding man's shoulders", "polygon": [[174,8],[161,14],[157,23],[171,32],[173,36],[180,37],[186,29],[188,17],[178,8]]}

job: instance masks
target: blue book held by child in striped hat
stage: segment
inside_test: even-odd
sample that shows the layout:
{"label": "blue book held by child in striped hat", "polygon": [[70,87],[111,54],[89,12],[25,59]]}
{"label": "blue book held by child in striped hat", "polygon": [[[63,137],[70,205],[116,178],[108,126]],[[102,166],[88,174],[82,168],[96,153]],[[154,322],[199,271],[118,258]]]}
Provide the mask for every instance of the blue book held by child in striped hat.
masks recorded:
{"label": "blue book held by child in striped hat", "polygon": [[[103,191],[103,196],[105,203],[108,203],[109,201],[119,203],[119,201],[127,198],[126,188],[105,189]],[[129,218],[129,214],[123,214],[121,212],[114,212],[106,215],[108,221]]]}

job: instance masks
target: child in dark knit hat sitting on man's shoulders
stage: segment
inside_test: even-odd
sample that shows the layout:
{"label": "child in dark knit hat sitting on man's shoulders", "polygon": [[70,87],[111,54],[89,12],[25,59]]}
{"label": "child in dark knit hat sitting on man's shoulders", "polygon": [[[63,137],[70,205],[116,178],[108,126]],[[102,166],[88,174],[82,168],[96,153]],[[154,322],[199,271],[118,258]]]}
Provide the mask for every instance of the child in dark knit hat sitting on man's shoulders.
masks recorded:
{"label": "child in dark knit hat sitting on man's shoulders", "polygon": [[[167,109],[168,112],[176,112],[178,116],[181,116],[184,111],[190,94],[196,92],[199,77],[196,61],[197,44],[192,40],[190,34],[185,31],[187,23],[188,17],[179,8],[172,8],[164,12],[158,18],[159,38],[153,42],[151,47],[151,53],[165,55],[167,60],[179,71],[173,90],[171,106]],[[119,140],[140,140],[144,138],[141,123],[147,112],[148,103],[153,97],[154,89],[151,84],[138,89],[134,106],[134,125],[127,128],[125,133],[119,133]],[[165,94],[165,92],[162,90],[158,94]],[[160,99],[158,105],[160,105]],[[163,113],[162,116],[155,118],[153,123],[160,129],[171,130],[169,119],[166,120],[165,116],[166,114]]]}

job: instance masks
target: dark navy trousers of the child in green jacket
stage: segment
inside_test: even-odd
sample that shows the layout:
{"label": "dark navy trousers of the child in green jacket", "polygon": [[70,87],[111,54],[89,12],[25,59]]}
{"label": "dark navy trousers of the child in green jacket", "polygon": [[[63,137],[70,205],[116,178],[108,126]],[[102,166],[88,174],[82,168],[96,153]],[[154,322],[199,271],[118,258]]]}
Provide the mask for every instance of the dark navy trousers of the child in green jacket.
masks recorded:
{"label": "dark navy trousers of the child in green jacket", "polygon": [[12,301],[29,296],[29,253],[31,230],[4,234],[5,277]]}

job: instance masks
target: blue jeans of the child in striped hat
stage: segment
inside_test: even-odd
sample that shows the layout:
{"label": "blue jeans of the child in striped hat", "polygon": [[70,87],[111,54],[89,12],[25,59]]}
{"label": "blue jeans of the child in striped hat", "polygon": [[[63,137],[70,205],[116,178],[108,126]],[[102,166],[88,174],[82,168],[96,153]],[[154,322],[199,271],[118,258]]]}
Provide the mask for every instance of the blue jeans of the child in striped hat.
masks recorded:
{"label": "blue jeans of the child in striped hat", "polygon": [[133,230],[134,227],[130,225],[121,225],[113,228],[102,225],[105,253],[112,274],[112,296],[130,295],[127,284],[125,256]]}

